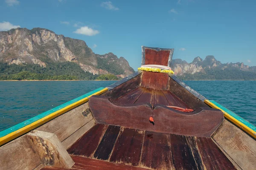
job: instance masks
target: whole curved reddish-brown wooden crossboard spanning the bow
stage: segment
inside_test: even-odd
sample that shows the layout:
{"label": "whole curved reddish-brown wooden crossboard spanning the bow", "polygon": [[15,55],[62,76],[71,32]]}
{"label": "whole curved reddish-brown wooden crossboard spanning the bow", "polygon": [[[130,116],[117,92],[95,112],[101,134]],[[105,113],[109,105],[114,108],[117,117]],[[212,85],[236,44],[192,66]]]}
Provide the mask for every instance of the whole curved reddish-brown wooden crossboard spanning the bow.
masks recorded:
{"label": "whole curved reddish-brown wooden crossboard spanning the bow", "polygon": [[[101,96],[90,97],[89,106],[98,123],[188,136],[210,137],[224,119],[218,109],[199,108],[184,113],[156,106],[152,111],[148,105],[117,106]],[[149,122],[150,116],[154,125]]]}

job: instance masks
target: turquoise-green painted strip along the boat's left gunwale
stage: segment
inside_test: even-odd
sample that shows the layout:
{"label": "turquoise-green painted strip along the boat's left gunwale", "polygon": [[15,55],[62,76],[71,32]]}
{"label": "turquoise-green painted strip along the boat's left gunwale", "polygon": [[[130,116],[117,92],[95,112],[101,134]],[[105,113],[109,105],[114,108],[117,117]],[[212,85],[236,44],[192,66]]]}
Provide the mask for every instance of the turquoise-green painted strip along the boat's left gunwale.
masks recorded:
{"label": "turquoise-green painted strip along the boat's left gunwale", "polygon": [[41,114],[39,114],[39,115],[37,115],[37,116],[34,116],[34,117],[30,118],[30,119],[27,119],[27,120],[25,120],[25,121],[23,121],[23,122],[20,122],[20,123],[18,123],[17,125],[14,125],[14,126],[12,126],[12,127],[9,127],[8,129],[3,130],[3,131],[0,132],[0,138],[3,137],[3,136],[8,135],[9,133],[15,132],[16,130],[19,130],[20,128],[25,127],[26,125],[29,125],[29,124],[31,124],[31,123],[33,123],[33,122],[35,122],[35,121],[38,121],[39,119],[42,119],[42,118],[44,118],[45,116],[48,116],[49,114],[54,113],[55,111],[58,111],[58,110],[60,110],[60,109],[62,109],[62,108],[65,108],[65,107],[67,107],[68,105],[71,105],[71,104],[73,104],[73,103],[75,103],[75,102],[78,102],[79,100],[84,99],[84,98],[86,98],[87,96],[90,96],[90,95],[92,95],[92,94],[94,94],[94,93],[96,93],[96,92],[98,92],[98,91],[103,90],[103,89],[104,89],[104,88],[98,88],[98,89],[96,89],[96,90],[90,91],[89,93],[84,94],[84,95],[82,95],[82,96],[80,96],[80,97],[77,97],[76,99],[70,100],[69,102],[66,102],[66,103],[64,103],[64,104],[62,104],[62,105],[59,105],[59,106],[57,106],[57,107],[55,107],[55,108],[50,109],[49,111],[46,111],[46,112],[41,113]]}

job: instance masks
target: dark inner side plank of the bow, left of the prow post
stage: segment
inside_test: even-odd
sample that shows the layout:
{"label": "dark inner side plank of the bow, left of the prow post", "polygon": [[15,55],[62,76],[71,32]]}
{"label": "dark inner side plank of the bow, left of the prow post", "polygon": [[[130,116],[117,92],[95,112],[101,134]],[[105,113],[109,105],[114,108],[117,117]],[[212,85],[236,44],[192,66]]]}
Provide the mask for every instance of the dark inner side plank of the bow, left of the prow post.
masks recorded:
{"label": "dark inner side plank of the bow, left of the prow post", "polygon": [[120,96],[127,94],[128,92],[138,88],[141,82],[141,74],[124,82],[123,84],[113,88],[111,91],[107,91],[102,96],[110,96],[113,99],[118,99]]}

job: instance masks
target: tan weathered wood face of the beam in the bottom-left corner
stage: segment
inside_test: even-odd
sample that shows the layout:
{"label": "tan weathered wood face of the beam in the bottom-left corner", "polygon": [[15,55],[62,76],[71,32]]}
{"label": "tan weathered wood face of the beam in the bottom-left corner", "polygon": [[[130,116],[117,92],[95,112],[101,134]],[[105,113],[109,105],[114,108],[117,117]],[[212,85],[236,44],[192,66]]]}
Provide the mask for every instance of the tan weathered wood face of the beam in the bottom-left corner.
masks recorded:
{"label": "tan weathered wood face of the beam in the bottom-left corner", "polygon": [[[42,163],[26,135],[0,147],[1,170],[32,170]],[[25,163],[26,162],[26,163]]]}

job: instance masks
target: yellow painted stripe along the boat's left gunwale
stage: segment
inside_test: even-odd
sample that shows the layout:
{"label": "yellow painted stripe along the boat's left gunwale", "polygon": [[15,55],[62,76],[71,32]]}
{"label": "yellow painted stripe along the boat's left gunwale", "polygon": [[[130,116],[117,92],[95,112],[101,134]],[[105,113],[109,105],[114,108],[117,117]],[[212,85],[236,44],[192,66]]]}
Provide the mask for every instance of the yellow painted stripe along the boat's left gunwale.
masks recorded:
{"label": "yellow painted stripe along the boat's left gunwale", "polygon": [[[97,91],[96,93],[94,93],[92,95],[100,95],[100,94],[105,93],[106,91],[108,91],[108,88],[104,88],[104,89],[102,89],[100,91]],[[92,96],[92,95],[90,95],[90,96]],[[44,123],[54,119],[55,117],[60,116],[61,114],[66,113],[67,111],[70,111],[71,109],[76,108],[79,105],[84,104],[85,102],[87,102],[89,100],[90,96],[87,96],[84,99],[81,99],[81,100],[79,100],[77,102],[74,102],[73,104],[68,105],[65,108],[62,108],[62,109],[60,109],[58,111],[55,111],[54,113],[49,114],[48,116],[45,116],[42,119],[39,119],[38,121],[35,121],[35,122],[25,126],[25,127],[20,128],[19,130],[16,130],[16,131],[14,131],[12,133],[9,133],[6,136],[1,137],[0,138],[0,146],[5,144],[5,143],[7,143],[7,142],[9,142],[9,141],[11,141],[12,139],[15,139],[15,138],[17,138],[17,137],[19,137],[19,136],[29,132],[30,130],[35,129],[36,127],[38,127],[40,125],[43,125]]]}

